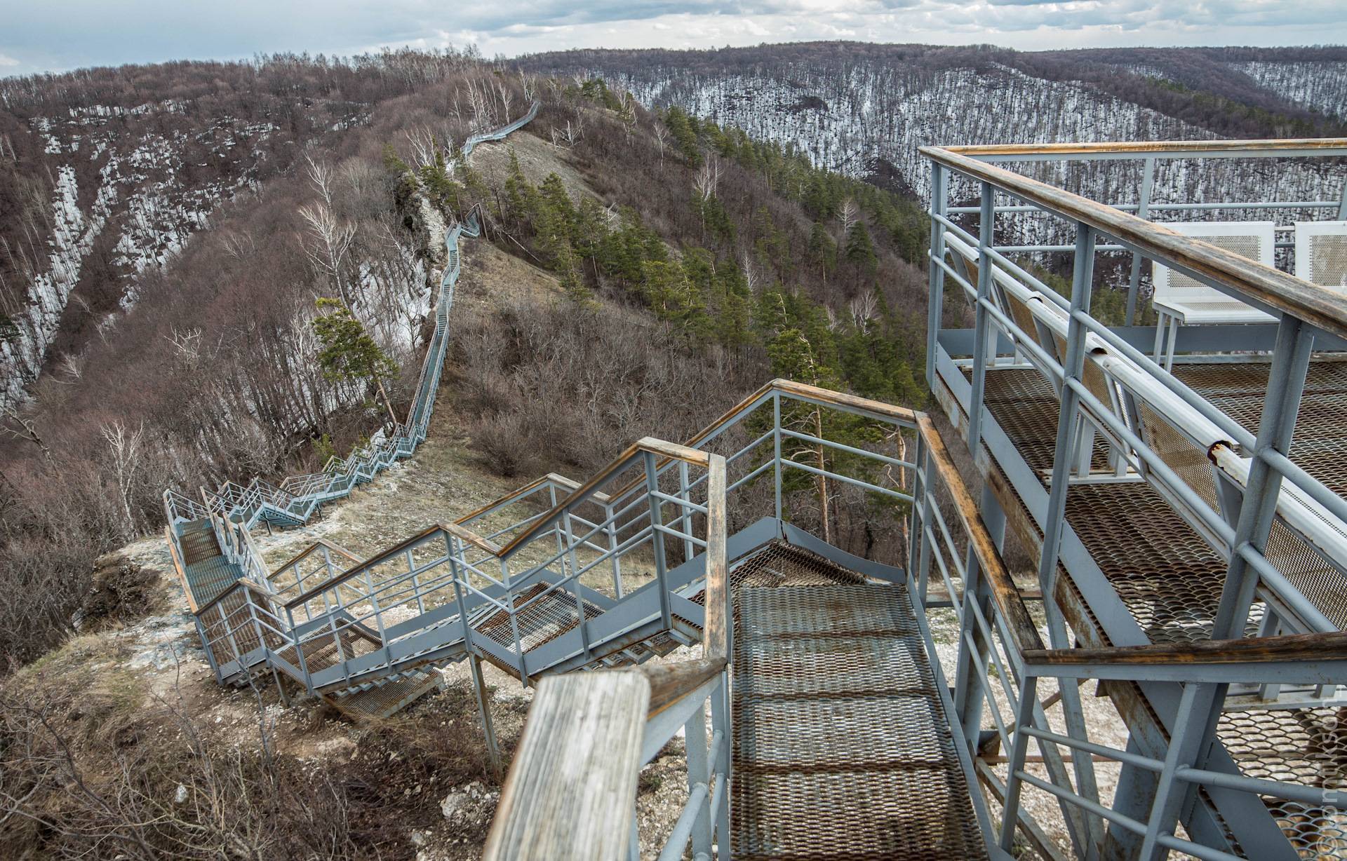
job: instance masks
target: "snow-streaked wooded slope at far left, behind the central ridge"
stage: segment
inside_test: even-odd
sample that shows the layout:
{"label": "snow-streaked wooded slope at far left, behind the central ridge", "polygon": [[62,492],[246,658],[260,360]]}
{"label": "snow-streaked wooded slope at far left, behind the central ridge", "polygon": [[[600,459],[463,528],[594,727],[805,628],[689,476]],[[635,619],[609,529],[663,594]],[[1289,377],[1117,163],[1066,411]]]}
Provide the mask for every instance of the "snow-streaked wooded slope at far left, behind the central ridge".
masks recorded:
{"label": "snow-streaked wooded slope at far left, behind the central ridge", "polygon": [[459,66],[277,55],[0,81],[0,408],[114,324],[221,204]]}

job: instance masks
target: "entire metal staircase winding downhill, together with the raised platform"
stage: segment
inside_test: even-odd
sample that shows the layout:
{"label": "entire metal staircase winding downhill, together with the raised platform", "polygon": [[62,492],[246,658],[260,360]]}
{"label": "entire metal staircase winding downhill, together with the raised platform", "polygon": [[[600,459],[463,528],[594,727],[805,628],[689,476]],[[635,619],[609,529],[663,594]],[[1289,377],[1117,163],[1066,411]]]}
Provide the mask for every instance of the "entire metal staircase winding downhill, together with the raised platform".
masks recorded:
{"label": "entire metal staircase winding downhill, together with the raised platform", "polygon": [[[1171,147],[1138,152],[1286,148]],[[634,858],[640,770],[679,733],[688,795],[665,861],[1347,854],[1340,299],[962,152],[925,155],[928,381],[954,433],[777,379],[585,483],[546,475],[369,558],[318,541],[269,570],[251,526],[303,522],[424,439],[467,225],[395,437],[280,487],[166,494],[218,679],[379,718],[466,659],[492,744],[480,662],[535,685],[489,860]],[[947,206],[950,172],[981,184],[979,207]],[[1029,210],[1078,230],[1071,299],[994,246],[994,215]],[[977,235],[950,218],[974,211]],[[1280,319],[1188,327],[1148,357],[1153,332],[1090,315],[1096,233]],[[942,331],[947,280],[971,332]],[[1175,373],[1165,343],[1189,354]],[[981,502],[946,436],[967,445]],[[792,518],[838,484],[902,530],[901,558]],[[1008,529],[1037,557],[1032,585],[1002,556]],[[1086,720],[1090,679],[1113,726]],[[1040,822],[1047,809],[1060,818]]]}

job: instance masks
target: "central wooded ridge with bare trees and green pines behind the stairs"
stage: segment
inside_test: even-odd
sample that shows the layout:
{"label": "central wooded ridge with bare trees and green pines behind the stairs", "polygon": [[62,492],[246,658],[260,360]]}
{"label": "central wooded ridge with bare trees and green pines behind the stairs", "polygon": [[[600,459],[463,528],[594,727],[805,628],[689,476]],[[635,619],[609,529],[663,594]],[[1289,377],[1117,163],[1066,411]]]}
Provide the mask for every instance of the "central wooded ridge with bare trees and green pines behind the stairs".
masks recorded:
{"label": "central wooded ridge with bare trees and green pines behind the stairs", "polygon": [[[257,116],[279,126],[314,108],[302,128],[277,144],[251,141],[255,161],[230,168],[248,182],[171,252],[133,277],[105,272],[104,299],[73,305],[96,324],[62,327],[31,398],[7,409],[0,650],[9,667],[71,631],[92,560],[154,530],[166,487],[308,471],[405,410],[443,264],[439,231],[474,207],[485,241],[554,273],[564,297],[451,319],[454,409],[500,474],[585,475],[630,439],[692,433],[770,375],[894,402],[923,397],[913,369],[924,361],[924,277],[913,261],[927,226],[913,199],[676,108],[648,112],[601,79],[521,75],[470,55],[280,66],[267,74],[284,83],[257,97],[271,105]],[[11,91],[26,94],[31,116],[57,93],[77,114],[89,113],[79,100],[179,105],[144,113],[199,125],[209,98],[193,87],[257,74],[186,71],[164,98],[155,86],[171,75],[155,67]],[[555,174],[527,178],[513,152],[494,178],[463,161],[467,133],[533,98],[543,106],[523,135],[586,190]],[[323,105],[342,105],[350,122],[330,128]],[[147,137],[140,121],[124,135]],[[78,152],[62,141],[65,156]],[[18,159],[19,175],[36,163]],[[132,281],[135,301],[124,301]],[[75,295],[92,288],[86,269]],[[331,373],[333,308],[343,332],[368,332],[377,378]],[[865,504],[838,494],[827,517],[841,523],[847,506]]]}

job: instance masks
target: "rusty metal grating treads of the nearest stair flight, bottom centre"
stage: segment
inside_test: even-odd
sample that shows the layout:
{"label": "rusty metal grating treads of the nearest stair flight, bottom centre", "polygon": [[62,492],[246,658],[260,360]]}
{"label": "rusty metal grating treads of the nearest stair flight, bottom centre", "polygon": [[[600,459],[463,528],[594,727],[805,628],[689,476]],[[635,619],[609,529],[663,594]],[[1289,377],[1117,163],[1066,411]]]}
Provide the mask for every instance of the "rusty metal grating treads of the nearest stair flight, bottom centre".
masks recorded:
{"label": "rusty metal grating treads of the nearest stair flight, bottom centre", "polygon": [[859,581],[785,545],[731,573],[734,856],[986,857],[907,591]]}

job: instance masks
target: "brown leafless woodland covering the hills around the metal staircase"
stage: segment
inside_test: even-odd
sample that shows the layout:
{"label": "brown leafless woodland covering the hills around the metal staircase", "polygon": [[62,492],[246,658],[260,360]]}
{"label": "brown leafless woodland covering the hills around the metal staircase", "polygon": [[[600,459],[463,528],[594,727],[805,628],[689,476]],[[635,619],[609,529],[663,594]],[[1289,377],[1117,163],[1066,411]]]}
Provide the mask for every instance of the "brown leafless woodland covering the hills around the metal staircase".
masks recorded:
{"label": "brown leafless woodland covering the hills around the metal staircase", "polygon": [[[828,172],[793,147],[676,106],[648,110],[575,74],[595,63],[843,70],[866,51],[916,75],[998,63],[1091,81],[1228,135],[1343,130],[1339,117],[1218,75],[1220,63],[1258,62],[1255,50],[819,43],[524,63],[567,77],[473,51],[404,51],[0,82],[7,373],[20,373],[20,342],[40,342],[26,397],[0,416],[0,841],[28,857],[404,858],[416,850],[389,810],[439,821],[422,786],[485,772],[480,747],[399,725],[362,741],[360,757],[298,763],[273,755],[265,726],[248,747],[222,741],[171,691],[148,710],[129,693],[84,704],[74,677],[48,678],[43,658],[77,632],[96,560],[162,527],[164,488],[195,495],[313,471],[389,424],[374,381],[323,373],[319,299],[348,308],[387,357],[377,382],[405,414],[443,230],[470,210],[482,214],[478,242],[560,288],[451,315],[436,409],[454,410],[470,456],[497,476],[583,479],[640,436],[690,436],[772,377],[923,406],[928,227],[901,176]],[[492,145],[492,170],[461,157],[470,133],[535,100],[537,118]],[[174,218],[180,230],[155,226]],[[53,249],[75,270],[48,272]],[[55,311],[38,338],[43,301]],[[820,504],[812,480],[791,488],[804,492],[789,517],[823,521],[834,545],[858,554],[901,550],[897,519],[872,517],[893,514],[885,503],[839,484]],[[471,718],[467,700],[450,705],[446,720]],[[164,739],[171,756],[159,755]],[[415,767],[393,770],[397,759]],[[185,786],[187,806],[171,800]]]}

